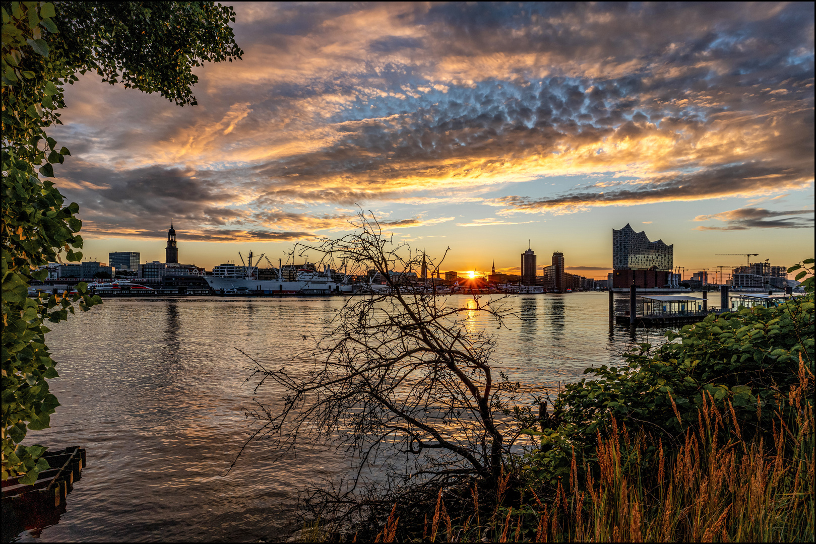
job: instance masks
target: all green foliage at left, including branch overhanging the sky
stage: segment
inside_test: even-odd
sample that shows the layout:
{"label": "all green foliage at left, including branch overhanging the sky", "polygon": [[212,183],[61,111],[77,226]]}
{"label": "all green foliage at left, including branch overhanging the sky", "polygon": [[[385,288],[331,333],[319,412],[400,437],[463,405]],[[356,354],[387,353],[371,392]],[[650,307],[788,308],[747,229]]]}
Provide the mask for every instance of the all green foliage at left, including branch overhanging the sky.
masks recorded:
{"label": "all green foliage at left, including branch overhanging the sky", "polygon": [[42,265],[79,261],[79,206],[47,178],[70,155],[45,132],[60,123],[64,84],[91,70],[103,81],[196,104],[193,69],[240,59],[232,7],[215,2],[2,2],[2,479],[36,480],[44,449],[24,448],[28,429],[49,426],[55,361],[45,321],[101,303],[77,294],[29,298]]}

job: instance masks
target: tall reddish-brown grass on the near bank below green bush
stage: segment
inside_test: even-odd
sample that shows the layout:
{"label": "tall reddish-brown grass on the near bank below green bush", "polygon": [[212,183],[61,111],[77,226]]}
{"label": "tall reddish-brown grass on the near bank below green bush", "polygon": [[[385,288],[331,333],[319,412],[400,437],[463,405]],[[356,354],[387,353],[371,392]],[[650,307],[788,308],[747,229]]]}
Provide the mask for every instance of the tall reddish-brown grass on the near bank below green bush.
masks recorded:
{"label": "tall reddish-brown grass on the near bank below green bush", "polygon": [[[743,440],[733,405],[718,408],[709,396],[698,410],[698,425],[678,437],[674,453],[659,442],[654,460],[629,468],[632,463],[624,462],[623,453],[640,455],[649,436],[643,431],[630,436],[613,420],[605,436],[598,434],[597,458],[573,454],[569,481],[550,490],[550,498],[543,499],[545,490],[536,493],[533,486],[513,493],[511,482],[525,479],[508,472],[495,493],[483,493],[486,498],[472,489],[467,510],[472,514],[451,518],[440,491],[422,537],[415,523],[400,528],[395,505],[376,540],[813,542],[816,444],[813,399],[807,392],[813,378],[800,364],[799,384],[784,399],[791,408],[787,421],[776,413],[772,427],[752,431],[750,440]],[[759,421],[759,403],[756,415]],[[493,515],[480,520],[480,511]]]}

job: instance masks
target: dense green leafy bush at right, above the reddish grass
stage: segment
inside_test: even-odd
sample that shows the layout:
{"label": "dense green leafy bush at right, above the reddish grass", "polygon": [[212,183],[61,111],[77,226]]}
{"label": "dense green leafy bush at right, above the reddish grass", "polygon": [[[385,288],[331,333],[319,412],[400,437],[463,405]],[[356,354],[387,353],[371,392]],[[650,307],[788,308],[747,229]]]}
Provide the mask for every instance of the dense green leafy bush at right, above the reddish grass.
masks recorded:
{"label": "dense green leafy bush at right, above the reddish grass", "polygon": [[[813,263],[807,259],[804,264]],[[796,265],[791,271],[803,268]],[[677,333],[667,333],[659,347],[641,344],[628,353],[623,365],[589,368],[583,379],[565,387],[555,402],[556,424],[543,431],[541,446],[522,459],[525,477],[557,484],[570,474],[575,451],[592,469],[599,433],[620,426],[630,432],[645,431],[650,444],[644,454],[624,454],[628,463],[645,466],[657,453],[659,441],[672,449],[690,427],[700,427],[699,410],[715,405],[730,414],[723,422],[723,436],[734,432],[742,440],[757,433],[770,435],[775,414],[789,419],[790,405],[783,402],[790,387],[799,383],[800,358],[814,370],[813,270],[805,267],[797,279],[810,272],[803,285],[807,293],[776,307],[739,308],[711,314]],[[813,394],[813,385],[809,386]]]}

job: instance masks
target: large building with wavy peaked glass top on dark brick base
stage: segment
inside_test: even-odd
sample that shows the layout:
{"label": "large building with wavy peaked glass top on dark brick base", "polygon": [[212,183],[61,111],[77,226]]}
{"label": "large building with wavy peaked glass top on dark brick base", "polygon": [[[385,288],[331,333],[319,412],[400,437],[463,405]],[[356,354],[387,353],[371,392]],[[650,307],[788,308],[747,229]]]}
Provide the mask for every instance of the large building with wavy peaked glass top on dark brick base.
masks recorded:
{"label": "large building with wavy peaked glass top on dark brick base", "polygon": [[629,223],[620,230],[613,228],[612,268],[614,287],[667,286],[674,268],[674,244],[650,241],[645,232],[635,232]]}

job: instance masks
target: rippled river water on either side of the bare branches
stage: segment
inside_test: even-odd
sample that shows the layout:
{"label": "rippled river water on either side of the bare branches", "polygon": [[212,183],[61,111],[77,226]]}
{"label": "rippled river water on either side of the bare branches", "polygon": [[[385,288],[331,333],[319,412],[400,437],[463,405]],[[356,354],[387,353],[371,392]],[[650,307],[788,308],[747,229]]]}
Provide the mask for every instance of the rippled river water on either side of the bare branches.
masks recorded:
{"label": "rippled river water on either side of the bare branches", "polygon": [[[452,297],[454,299],[458,297]],[[457,303],[467,303],[462,297]],[[452,301],[454,302],[454,301]],[[626,297],[616,298],[623,308]],[[81,445],[87,467],[59,523],[22,542],[258,541],[293,529],[298,490],[347,467],[342,453],[302,447],[277,458],[246,437],[250,366],[301,352],[303,335],[344,299],[106,299],[55,325],[51,391],[62,405],[26,444]],[[583,369],[620,360],[628,329],[610,329],[606,293],[522,295],[519,317],[494,330],[499,369],[526,387],[554,390]],[[472,326],[482,325],[477,317]],[[640,331],[637,341],[660,341]],[[273,391],[274,392],[274,391]],[[276,399],[269,398],[274,403]],[[276,459],[277,458],[277,459]]]}

